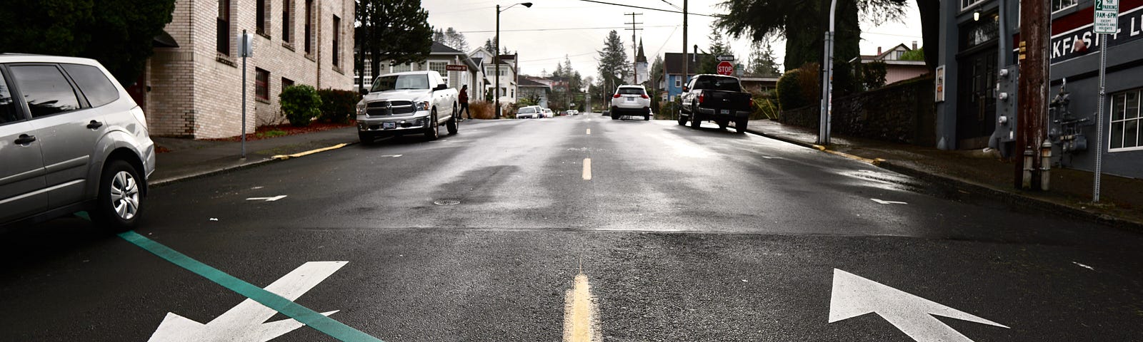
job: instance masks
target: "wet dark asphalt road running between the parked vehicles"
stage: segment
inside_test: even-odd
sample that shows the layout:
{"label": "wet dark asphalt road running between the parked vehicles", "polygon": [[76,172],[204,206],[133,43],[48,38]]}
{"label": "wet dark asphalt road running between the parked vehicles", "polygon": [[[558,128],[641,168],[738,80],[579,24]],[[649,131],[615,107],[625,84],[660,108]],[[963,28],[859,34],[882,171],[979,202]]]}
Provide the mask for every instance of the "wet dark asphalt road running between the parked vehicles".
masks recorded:
{"label": "wet dark asphalt road running between the parked vehicles", "polygon": [[[295,302],[384,341],[560,341],[581,272],[602,341],[1143,341],[1138,234],[712,123],[464,122],[147,199],[139,235],[257,287],[345,261]],[[247,299],[80,218],[0,251],[3,341],[147,341]],[[207,326],[247,341],[286,318]]]}

